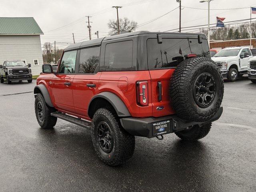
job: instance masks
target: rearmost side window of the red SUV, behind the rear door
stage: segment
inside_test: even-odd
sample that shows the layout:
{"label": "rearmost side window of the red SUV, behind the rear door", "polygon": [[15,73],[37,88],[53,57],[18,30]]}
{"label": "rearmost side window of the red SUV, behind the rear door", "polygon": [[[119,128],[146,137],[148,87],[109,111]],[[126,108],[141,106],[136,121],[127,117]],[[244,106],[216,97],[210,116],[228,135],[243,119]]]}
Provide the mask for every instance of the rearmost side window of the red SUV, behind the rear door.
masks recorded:
{"label": "rearmost side window of the red SUV, behind the rear door", "polygon": [[106,44],[104,67],[101,70],[134,70],[132,40]]}

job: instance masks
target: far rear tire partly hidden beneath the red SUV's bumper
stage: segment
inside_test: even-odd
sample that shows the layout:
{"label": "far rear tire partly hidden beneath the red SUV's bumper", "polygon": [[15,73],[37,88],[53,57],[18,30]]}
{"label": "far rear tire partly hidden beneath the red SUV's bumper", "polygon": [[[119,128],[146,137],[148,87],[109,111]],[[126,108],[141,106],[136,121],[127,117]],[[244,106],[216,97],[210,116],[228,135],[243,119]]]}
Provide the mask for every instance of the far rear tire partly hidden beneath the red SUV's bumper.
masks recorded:
{"label": "far rear tire partly hidden beneath the red SUV's bumper", "polygon": [[188,128],[188,130],[178,131],[175,132],[175,134],[185,141],[196,141],[199,139],[204,138],[209,132],[212,127],[212,123],[198,126],[194,125],[191,128]]}

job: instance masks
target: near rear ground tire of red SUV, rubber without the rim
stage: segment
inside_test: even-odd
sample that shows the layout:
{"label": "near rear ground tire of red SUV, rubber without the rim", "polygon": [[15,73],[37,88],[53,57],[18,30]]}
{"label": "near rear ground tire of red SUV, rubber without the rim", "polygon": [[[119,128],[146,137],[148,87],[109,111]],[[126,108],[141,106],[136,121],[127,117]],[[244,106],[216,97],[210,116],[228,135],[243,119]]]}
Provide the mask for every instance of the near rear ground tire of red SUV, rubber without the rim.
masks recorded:
{"label": "near rear ground tire of red SUV, rubber without the rim", "polygon": [[[108,124],[114,145],[108,153],[104,152],[98,142],[98,125],[102,122]],[[98,109],[92,119],[92,143],[100,160],[109,166],[123,164],[132,157],[135,148],[135,138],[122,128],[116,112],[112,108]]]}

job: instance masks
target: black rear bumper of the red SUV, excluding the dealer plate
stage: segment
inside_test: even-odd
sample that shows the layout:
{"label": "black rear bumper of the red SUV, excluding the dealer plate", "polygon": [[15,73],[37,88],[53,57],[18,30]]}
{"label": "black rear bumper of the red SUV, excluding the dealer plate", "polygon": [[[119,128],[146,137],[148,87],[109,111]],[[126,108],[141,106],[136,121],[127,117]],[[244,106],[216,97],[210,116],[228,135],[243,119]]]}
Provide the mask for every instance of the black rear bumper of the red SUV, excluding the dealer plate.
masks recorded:
{"label": "black rear bumper of the red SUV, excluding the dealer plate", "polygon": [[[178,118],[176,115],[170,115],[170,116],[164,116],[159,118],[149,117],[149,118],[121,118],[121,124],[123,128],[130,134],[134,136],[141,136],[141,137],[147,137],[152,138],[156,135],[153,134],[153,124],[157,122],[163,122],[163,121],[170,121],[170,131],[165,132],[163,134],[169,134],[177,131],[184,130],[192,125],[204,125],[208,124],[210,122],[216,121],[220,118],[221,114],[223,112],[223,108],[220,107],[217,111],[216,115],[206,121],[206,122],[189,122],[184,121],[180,118]],[[159,134],[159,135],[163,135]]]}

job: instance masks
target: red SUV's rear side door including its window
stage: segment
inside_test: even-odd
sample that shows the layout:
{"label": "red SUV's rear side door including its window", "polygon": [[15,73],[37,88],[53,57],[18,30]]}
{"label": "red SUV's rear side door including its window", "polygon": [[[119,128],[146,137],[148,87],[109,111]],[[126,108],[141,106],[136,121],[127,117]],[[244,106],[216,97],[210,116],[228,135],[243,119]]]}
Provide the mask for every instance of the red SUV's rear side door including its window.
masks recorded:
{"label": "red SUV's rear side door including its window", "polygon": [[73,80],[73,97],[76,114],[88,117],[88,104],[96,95],[99,72],[100,46],[80,50],[78,74]]}

